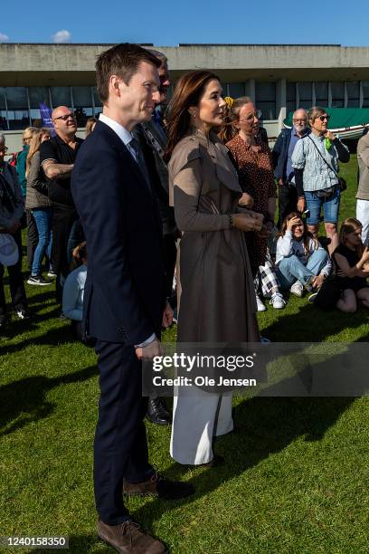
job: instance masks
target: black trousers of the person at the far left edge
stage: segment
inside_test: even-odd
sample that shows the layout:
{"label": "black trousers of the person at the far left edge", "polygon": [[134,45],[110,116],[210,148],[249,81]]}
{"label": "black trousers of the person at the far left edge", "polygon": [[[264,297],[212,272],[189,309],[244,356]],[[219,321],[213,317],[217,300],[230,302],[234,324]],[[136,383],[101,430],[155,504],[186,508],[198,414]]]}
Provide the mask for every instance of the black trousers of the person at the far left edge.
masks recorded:
{"label": "black trousers of the person at the far left edge", "polygon": [[[24,291],[24,280],[22,274],[22,233],[18,229],[14,234],[13,238],[15,243],[18,246],[19,259],[18,262],[14,265],[9,265],[7,270],[9,274],[9,287],[10,294],[12,297],[12,304],[14,310],[16,309],[26,309],[27,300],[25,298]],[[5,301],[5,291],[4,291],[4,265],[0,263],[0,315],[3,315],[6,310],[6,301]]]}

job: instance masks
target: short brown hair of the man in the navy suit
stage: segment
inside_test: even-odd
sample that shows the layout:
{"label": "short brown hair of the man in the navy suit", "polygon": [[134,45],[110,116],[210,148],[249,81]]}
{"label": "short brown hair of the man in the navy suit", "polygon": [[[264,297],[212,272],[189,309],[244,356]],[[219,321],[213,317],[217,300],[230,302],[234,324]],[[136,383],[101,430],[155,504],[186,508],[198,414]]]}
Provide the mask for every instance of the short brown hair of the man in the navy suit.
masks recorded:
{"label": "short brown hair of the man in the navy suit", "polygon": [[161,61],[138,44],[117,44],[99,55],[96,62],[96,81],[100,100],[104,103],[109,98],[109,79],[117,75],[127,85],[137,72],[141,62],[152,63],[157,68]]}

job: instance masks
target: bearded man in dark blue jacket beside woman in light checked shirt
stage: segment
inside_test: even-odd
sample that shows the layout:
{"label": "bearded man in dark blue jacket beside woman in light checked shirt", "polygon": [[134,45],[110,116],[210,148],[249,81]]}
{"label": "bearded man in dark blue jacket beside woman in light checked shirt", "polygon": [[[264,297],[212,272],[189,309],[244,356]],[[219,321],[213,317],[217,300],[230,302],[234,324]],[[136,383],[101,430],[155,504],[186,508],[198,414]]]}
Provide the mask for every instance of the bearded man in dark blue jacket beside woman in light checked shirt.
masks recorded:
{"label": "bearded man in dark blue jacket beside woman in light checked shirt", "polygon": [[292,116],[292,128],[282,129],[271,152],[279,192],[279,219],[278,228],[287,215],[295,212],[298,205],[298,192],[296,190],[295,172],[292,167],[292,153],[296,143],[310,133],[307,127],[307,111],[300,108]]}

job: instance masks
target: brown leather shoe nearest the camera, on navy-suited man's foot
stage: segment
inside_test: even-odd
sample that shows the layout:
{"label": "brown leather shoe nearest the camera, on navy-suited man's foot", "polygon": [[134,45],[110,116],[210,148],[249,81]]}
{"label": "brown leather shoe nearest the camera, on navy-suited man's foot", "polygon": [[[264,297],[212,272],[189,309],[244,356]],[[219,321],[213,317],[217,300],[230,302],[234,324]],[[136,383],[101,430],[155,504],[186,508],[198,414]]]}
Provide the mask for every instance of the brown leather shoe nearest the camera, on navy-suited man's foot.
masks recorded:
{"label": "brown leather shoe nearest the camera, on navy-suited man's foot", "polygon": [[135,521],[107,525],[99,520],[98,535],[120,554],[167,554],[168,552],[160,540],[151,537]]}

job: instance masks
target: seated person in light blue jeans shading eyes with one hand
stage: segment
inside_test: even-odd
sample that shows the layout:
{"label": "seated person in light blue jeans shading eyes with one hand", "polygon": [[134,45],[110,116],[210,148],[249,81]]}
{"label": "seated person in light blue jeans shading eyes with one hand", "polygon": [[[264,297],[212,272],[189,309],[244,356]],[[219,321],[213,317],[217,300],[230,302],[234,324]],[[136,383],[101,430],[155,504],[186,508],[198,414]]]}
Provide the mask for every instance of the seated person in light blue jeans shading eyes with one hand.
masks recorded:
{"label": "seated person in light blue jeans shading eyes with one hand", "polygon": [[318,290],[331,271],[326,250],[307,231],[307,224],[297,212],[291,212],[282,224],[276,265],[280,288],[299,298],[304,289]]}

